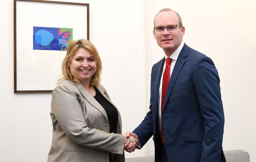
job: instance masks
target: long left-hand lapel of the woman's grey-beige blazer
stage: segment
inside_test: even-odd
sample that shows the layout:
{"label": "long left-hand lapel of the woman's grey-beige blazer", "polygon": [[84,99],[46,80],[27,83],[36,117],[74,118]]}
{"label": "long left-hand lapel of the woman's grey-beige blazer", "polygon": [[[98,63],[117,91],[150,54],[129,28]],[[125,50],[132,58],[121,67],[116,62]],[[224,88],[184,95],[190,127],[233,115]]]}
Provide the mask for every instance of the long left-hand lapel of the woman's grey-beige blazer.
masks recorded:
{"label": "long left-hand lapel of the woman's grey-beige blazer", "polygon": [[[73,83],[74,84],[74,83]],[[108,116],[104,108],[95,100],[94,97],[92,97],[89,92],[82,86],[82,84],[75,84],[78,87],[78,90],[81,92],[81,94],[84,96],[84,98],[96,109],[98,109],[103,116],[108,121]],[[104,95],[103,95],[104,96]]]}

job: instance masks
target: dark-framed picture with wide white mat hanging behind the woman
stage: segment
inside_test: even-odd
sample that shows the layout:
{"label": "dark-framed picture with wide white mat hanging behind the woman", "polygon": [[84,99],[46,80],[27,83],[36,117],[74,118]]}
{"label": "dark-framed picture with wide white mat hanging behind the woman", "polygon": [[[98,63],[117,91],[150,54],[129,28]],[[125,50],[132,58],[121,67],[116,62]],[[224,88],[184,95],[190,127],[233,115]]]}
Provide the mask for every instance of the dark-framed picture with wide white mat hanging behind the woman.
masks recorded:
{"label": "dark-framed picture with wide white mat hanging behind the woman", "polygon": [[14,0],[14,93],[52,92],[80,38],[89,40],[89,4]]}

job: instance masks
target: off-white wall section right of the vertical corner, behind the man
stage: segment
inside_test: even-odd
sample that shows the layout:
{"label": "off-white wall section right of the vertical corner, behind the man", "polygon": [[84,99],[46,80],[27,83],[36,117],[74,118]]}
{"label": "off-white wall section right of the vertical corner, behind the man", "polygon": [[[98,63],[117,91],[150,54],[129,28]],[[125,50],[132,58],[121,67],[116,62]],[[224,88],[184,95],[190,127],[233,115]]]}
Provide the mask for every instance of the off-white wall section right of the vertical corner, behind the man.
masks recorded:
{"label": "off-white wall section right of the vertical corner, behind the man", "polygon": [[[153,19],[162,8],[182,17],[184,42],[214,61],[220,76],[225,113],[223,149],[243,149],[256,161],[256,2],[252,0],[147,0],[146,104],[152,65],[164,57],[154,40]],[[153,149],[147,153],[152,154]]]}

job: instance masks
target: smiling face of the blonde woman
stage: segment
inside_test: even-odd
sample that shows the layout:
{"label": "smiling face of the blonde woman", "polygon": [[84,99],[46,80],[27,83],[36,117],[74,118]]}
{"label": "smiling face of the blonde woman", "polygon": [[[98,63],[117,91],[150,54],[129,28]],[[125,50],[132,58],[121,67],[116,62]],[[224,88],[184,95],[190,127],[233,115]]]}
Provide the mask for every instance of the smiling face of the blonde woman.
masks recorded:
{"label": "smiling face of the blonde woman", "polygon": [[80,47],[70,62],[71,74],[81,83],[89,85],[96,69],[97,63],[90,51]]}

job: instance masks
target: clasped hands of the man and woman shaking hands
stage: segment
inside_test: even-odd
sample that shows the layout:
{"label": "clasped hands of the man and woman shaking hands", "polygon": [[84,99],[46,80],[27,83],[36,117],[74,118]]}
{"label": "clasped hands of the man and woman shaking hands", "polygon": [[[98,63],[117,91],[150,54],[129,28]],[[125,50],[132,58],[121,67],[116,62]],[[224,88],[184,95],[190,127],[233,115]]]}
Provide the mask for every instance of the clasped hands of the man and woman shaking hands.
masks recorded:
{"label": "clasped hands of the man and woman shaking hands", "polygon": [[126,132],[124,150],[126,150],[127,152],[134,152],[138,145],[138,136],[135,133]]}

